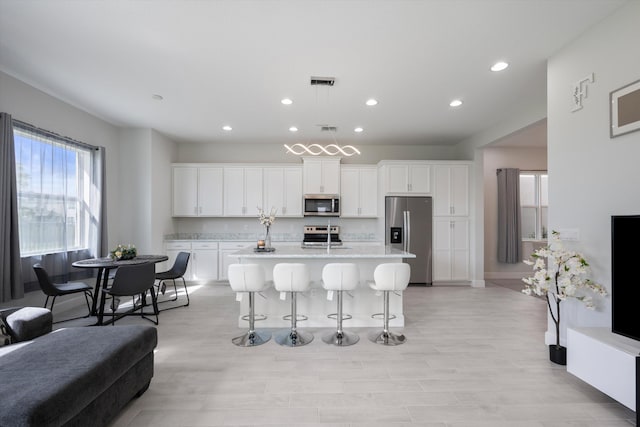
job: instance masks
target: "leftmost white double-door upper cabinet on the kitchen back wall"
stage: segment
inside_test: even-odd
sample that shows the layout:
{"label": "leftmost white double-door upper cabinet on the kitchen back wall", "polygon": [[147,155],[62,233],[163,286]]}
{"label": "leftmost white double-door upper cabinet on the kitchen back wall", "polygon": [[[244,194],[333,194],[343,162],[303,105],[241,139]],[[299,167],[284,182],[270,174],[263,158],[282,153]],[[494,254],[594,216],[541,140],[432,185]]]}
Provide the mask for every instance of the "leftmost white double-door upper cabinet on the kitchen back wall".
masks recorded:
{"label": "leftmost white double-door upper cabinet on the kitchen back wall", "polygon": [[173,216],[222,215],[221,167],[174,165]]}

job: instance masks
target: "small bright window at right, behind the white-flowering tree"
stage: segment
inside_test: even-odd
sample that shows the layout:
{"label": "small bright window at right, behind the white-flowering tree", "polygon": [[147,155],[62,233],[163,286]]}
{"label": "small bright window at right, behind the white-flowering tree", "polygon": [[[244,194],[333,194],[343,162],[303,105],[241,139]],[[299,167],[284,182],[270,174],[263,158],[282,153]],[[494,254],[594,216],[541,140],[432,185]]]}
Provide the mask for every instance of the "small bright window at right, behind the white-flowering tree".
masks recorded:
{"label": "small bright window at right, behind the white-flowering tree", "polygon": [[520,172],[522,240],[546,240],[549,208],[547,172]]}

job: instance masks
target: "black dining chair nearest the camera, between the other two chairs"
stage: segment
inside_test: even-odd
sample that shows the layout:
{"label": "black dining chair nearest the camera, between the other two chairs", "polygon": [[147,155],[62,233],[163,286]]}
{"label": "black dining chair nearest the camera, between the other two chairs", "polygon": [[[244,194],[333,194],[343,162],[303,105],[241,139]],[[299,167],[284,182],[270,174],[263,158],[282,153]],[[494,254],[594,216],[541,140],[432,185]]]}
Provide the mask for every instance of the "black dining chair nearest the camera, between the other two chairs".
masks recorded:
{"label": "black dining chair nearest the camera, between the other two chairs", "polygon": [[[103,324],[105,316],[104,306],[107,297],[111,298],[111,324],[116,320],[140,310],[140,317],[158,324],[158,302],[154,289],[155,265],[153,263],[122,265],[116,270],[113,284],[108,289],[102,289],[100,298],[100,311],[98,312],[98,324]],[[145,316],[144,307],[147,306],[147,292],[151,294],[151,304],[155,320]],[[132,307],[124,312],[117,312],[120,297],[132,297]]]}

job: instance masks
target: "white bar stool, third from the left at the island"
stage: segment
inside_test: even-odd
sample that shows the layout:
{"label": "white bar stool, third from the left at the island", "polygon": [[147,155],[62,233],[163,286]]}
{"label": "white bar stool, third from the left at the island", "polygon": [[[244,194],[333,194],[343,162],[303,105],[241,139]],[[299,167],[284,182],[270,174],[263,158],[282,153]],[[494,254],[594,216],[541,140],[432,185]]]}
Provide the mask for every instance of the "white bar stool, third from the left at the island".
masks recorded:
{"label": "white bar stool, third from the left at the island", "polygon": [[[360,337],[352,332],[342,330],[342,321],[351,319],[351,315],[342,315],[342,293],[352,291],[358,286],[360,271],[358,266],[351,263],[330,263],[322,269],[322,287],[329,292],[338,294],[338,312],[335,314],[338,326],[336,330],[322,337],[327,344],[338,346],[353,345]],[[327,317],[333,318],[333,314]]]}

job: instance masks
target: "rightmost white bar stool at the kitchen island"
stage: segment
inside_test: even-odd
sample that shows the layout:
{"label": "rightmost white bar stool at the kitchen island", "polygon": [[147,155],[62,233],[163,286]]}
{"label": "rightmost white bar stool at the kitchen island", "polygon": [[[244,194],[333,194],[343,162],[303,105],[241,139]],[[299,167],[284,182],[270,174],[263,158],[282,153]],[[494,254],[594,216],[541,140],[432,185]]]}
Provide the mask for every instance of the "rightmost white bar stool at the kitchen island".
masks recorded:
{"label": "rightmost white bar stool at the kitchen island", "polygon": [[374,314],[371,317],[378,317],[382,314],[384,319],[384,327],[382,332],[374,332],[369,335],[369,340],[377,344],[384,345],[400,345],[404,344],[406,338],[404,335],[397,335],[389,332],[389,320],[395,319],[395,315],[389,315],[389,292],[400,292],[409,285],[411,277],[411,268],[406,263],[387,263],[380,264],[373,271],[374,283],[371,288],[376,291],[383,292],[384,295],[384,312]]}

